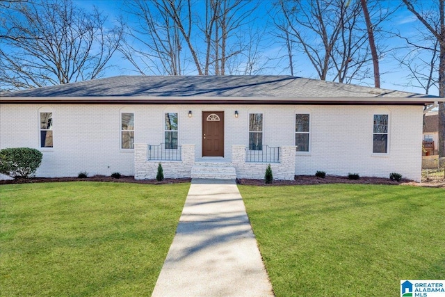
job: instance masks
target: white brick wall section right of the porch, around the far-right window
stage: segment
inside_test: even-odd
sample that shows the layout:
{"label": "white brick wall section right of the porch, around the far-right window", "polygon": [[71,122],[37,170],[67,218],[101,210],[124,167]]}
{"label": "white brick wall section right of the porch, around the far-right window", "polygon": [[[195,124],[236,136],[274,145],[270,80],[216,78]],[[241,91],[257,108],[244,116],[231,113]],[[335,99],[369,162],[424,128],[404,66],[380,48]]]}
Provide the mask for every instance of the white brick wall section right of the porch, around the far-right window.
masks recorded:
{"label": "white brick wall section right of the porch, around the far-right window", "polygon": [[[296,175],[389,177],[398,172],[421,179],[422,106],[309,106],[311,152],[297,153]],[[389,114],[389,154],[373,154],[373,115]]]}

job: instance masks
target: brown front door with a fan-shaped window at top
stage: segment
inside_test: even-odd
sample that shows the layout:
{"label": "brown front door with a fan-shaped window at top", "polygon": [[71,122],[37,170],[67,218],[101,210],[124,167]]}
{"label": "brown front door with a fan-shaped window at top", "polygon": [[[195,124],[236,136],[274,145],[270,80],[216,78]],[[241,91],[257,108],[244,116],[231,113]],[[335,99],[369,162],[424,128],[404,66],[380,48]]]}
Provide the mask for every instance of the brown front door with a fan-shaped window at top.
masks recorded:
{"label": "brown front door with a fan-shaped window at top", "polygon": [[224,156],[224,111],[202,112],[202,156]]}

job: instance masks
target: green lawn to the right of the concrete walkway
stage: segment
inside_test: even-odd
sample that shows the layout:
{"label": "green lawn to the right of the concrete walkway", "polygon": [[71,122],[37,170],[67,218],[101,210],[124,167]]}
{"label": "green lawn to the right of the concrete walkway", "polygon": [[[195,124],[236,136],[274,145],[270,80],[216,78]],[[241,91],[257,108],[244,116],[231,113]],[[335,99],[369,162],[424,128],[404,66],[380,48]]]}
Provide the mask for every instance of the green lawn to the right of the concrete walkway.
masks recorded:
{"label": "green lawn to the right of the concrete walkway", "polygon": [[400,296],[445,279],[445,189],[238,186],[276,296]]}

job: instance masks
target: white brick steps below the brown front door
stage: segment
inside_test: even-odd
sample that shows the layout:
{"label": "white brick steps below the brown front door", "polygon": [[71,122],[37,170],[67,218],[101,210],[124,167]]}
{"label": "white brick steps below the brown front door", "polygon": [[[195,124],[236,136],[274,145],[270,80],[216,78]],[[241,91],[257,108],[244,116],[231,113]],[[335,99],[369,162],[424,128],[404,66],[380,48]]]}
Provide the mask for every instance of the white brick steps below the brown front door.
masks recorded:
{"label": "white brick steps below the brown front door", "polygon": [[236,170],[232,163],[195,163],[191,178],[236,179]]}

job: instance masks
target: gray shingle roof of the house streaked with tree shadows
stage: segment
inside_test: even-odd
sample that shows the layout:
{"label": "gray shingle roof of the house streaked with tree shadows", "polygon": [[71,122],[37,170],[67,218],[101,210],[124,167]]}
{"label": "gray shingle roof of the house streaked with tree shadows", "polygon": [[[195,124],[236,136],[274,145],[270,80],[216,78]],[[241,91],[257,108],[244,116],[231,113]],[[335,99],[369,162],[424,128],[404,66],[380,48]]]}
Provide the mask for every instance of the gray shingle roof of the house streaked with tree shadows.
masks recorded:
{"label": "gray shingle roof of the house streaked with tree shadows", "polygon": [[0,93],[0,97],[434,97],[289,76],[121,76]]}

